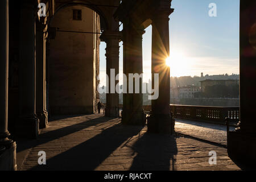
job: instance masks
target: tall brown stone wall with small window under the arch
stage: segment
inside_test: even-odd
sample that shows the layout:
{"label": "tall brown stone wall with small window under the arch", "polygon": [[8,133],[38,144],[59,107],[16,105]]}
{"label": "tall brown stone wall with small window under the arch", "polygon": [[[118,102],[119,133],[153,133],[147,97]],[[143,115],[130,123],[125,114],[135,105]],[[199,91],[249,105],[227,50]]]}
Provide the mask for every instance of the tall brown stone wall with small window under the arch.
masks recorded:
{"label": "tall brown stone wall with small window under the arch", "polygon": [[[82,20],[73,20],[73,9],[82,10]],[[96,27],[99,21],[94,11],[84,6],[71,6],[60,10],[51,22],[51,27],[57,30],[55,39],[50,43],[51,114],[95,112],[99,69],[98,35],[61,31],[94,32],[100,29]]]}

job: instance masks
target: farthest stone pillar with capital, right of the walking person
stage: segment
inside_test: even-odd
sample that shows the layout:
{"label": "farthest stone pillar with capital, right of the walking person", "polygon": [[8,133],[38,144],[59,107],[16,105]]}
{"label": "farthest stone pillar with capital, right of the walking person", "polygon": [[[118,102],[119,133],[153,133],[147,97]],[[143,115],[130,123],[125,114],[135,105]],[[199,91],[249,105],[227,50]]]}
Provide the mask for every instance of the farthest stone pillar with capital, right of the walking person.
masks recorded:
{"label": "farthest stone pillar with capital, right of the walking person", "polygon": [[[106,74],[109,77],[107,80],[107,90],[106,93],[106,117],[118,117],[117,108],[119,107],[119,94],[115,92],[115,85],[118,81],[115,77],[119,74],[119,40],[120,32],[115,31],[104,31],[101,35],[101,40],[106,42]],[[114,77],[111,77],[110,70],[114,69]],[[114,86],[110,86],[114,85]]]}

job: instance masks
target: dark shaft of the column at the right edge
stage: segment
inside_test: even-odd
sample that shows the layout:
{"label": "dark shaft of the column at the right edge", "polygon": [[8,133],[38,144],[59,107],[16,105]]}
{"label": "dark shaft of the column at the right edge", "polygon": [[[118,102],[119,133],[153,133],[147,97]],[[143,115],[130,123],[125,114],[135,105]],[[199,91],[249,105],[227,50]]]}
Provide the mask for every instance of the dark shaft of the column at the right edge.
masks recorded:
{"label": "dark shaft of the column at the right edge", "polygon": [[256,133],[256,16],[255,2],[241,2],[240,12],[240,127],[245,133]]}

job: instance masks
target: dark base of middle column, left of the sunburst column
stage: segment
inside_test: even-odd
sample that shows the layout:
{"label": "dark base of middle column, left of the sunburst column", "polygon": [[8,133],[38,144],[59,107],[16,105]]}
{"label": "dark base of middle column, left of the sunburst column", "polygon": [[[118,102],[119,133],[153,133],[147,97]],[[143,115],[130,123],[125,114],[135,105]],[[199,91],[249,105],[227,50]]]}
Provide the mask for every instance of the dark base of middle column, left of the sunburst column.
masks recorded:
{"label": "dark base of middle column, left of the sunburst column", "polygon": [[144,111],[132,112],[122,111],[122,123],[124,125],[146,125],[146,114]]}

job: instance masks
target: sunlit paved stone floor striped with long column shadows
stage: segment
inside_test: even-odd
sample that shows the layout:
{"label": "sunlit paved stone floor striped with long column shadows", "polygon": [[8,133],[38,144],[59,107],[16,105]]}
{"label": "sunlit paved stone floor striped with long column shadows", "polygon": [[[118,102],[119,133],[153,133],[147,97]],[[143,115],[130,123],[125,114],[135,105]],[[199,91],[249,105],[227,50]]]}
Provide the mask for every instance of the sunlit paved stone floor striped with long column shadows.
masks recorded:
{"label": "sunlit paved stone floor striped with long column shadows", "polygon": [[[17,141],[19,170],[240,170],[226,148],[196,139],[147,134],[98,114],[52,120],[39,139]],[[39,151],[46,165],[38,165]],[[209,164],[210,151],[217,165]]]}

